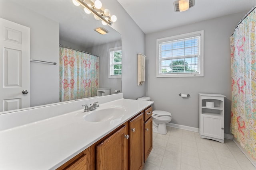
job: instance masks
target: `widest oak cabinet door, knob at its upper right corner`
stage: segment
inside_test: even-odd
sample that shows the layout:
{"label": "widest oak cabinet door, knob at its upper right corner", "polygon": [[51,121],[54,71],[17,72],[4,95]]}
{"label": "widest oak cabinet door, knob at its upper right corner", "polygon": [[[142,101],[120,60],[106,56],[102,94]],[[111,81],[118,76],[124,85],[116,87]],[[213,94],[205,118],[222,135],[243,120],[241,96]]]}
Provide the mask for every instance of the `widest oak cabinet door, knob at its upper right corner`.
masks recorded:
{"label": "widest oak cabinet door, knob at its upper right corner", "polygon": [[[116,133],[96,146],[97,170],[127,170],[128,169],[128,134],[124,125]],[[128,137],[127,137],[128,138]]]}

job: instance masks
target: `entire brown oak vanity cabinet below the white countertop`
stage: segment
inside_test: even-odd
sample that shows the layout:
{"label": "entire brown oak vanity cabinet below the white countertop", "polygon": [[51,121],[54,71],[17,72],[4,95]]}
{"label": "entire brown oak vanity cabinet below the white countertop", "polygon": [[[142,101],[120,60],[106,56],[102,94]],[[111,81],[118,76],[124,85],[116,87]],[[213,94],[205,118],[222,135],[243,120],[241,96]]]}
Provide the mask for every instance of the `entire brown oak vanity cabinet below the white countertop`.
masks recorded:
{"label": "entire brown oak vanity cabinet below the white countertop", "polygon": [[151,150],[152,107],[148,107],[57,170],[142,170]]}

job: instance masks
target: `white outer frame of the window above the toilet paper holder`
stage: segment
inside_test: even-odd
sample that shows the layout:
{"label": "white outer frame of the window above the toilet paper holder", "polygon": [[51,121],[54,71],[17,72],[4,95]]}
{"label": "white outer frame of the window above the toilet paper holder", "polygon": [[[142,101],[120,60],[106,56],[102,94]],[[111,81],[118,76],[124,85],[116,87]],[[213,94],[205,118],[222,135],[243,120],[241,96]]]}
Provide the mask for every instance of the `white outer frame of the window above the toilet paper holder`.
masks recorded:
{"label": "white outer frame of the window above the toilet paper holder", "polygon": [[[160,74],[159,62],[161,58],[159,58],[159,44],[167,41],[189,38],[196,35],[200,35],[200,53],[199,53],[199,61],[198,61],[199,73],[187,72],[187,73]],[[203,77],[203,76],[204,76],[204,30],[156,39],[156,77]]]}

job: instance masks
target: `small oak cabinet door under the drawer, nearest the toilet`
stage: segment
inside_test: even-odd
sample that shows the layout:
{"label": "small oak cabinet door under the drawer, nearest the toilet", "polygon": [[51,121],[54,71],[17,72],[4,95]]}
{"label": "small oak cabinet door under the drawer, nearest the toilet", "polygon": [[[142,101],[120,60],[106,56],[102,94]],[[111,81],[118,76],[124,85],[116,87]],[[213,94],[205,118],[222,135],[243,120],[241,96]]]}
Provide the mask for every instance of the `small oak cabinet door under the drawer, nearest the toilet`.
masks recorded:
{"label": "small oak cabinet door under the drawer, nearest the toilet", "polygon": [[148,159],[148,156],[153,149],[153,124],[152,117],[144,123],[144,162]]}

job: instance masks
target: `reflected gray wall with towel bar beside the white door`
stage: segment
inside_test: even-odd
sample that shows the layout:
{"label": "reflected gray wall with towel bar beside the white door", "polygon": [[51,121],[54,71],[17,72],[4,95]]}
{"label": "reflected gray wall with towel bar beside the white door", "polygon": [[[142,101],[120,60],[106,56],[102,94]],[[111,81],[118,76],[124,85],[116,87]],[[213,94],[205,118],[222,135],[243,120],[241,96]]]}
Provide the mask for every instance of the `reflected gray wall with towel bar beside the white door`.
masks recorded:
{"label": "reflected gray wall with towel bar beside the white door", "polygon": [[[30,27],[30,59],[59,63],[59,24],[8,0],[0,18]],[[59,64],[30,62],[30,106],[59,102]]]}

